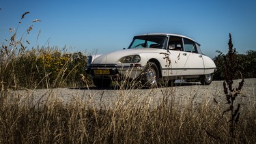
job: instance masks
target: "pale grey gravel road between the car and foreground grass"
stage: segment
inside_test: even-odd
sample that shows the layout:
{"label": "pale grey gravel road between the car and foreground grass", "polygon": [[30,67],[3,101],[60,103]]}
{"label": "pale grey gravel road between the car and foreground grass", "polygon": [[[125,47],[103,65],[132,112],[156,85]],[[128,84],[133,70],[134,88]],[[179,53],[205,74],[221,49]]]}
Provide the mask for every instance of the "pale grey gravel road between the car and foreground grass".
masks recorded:
{"label": "pale grey gravel road between the car and foreground grass", "polygon": [[[233,83],[233,87],[238,87],[240,80]],[[33,102],[40,104],[45,100],[57,98],[59,102],[87,102],[95,106],[111,107],[117,102],[154,102],[159,103],[163,98],[172,98],[177,102],[193,102],[200,104],[206,102],[226,102],[223,92],[223,81],[213,81],[211,85],[200,85],[200,83],[176,83],[175,87],[162,87],[155,89],[96,89],[96,87],[80,88],[58,88],[58,89],[35,89],[10,91],[12,96],[26,99],[33,98]],[[246,104],[256,103],[256,78],[245,79],[242,87],[240,100]],[[144,99],[143,99],[144,98]],[[146,100],[145,100],[146,99]],[[140,101],[143,100],[143,101]]]}

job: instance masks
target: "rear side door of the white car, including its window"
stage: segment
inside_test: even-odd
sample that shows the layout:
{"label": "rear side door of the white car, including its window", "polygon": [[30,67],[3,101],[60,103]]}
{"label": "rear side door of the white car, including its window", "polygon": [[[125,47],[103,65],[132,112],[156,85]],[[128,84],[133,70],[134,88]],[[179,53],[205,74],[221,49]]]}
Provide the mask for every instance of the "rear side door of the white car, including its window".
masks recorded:
{"label": "rear side door of the white car, including its window", "polygon": [[202,75],[204,74],[203,55],[201,51],[198,51],[197,44],[193,40],[183,38],[184,42],[184,53],[188,61],[187,64],[189,75]]}

